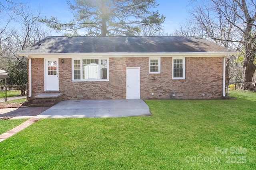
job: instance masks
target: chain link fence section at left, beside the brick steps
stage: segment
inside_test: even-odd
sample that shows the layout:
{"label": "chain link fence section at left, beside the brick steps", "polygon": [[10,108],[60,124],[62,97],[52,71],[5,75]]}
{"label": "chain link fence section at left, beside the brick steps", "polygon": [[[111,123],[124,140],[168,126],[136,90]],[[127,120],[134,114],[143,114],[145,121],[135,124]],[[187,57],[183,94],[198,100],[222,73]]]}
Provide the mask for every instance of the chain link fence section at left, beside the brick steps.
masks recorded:
{"label": "chain link fence section at left, beside the brick steps", "polygon": [[0,86],[0,103],[21,103],[28,101],[28,85]]}

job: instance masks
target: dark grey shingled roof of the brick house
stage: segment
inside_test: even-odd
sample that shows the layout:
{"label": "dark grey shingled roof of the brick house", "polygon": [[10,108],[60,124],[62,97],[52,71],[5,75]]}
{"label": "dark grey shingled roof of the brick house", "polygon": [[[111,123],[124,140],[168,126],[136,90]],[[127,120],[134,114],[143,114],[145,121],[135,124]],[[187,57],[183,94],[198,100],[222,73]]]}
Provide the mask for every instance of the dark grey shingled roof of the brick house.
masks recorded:
{"label": "dark grey shingled roof of the brick house", "polygon": [[199,37],[49,36],[20,53],[218,53],[234,52]]}

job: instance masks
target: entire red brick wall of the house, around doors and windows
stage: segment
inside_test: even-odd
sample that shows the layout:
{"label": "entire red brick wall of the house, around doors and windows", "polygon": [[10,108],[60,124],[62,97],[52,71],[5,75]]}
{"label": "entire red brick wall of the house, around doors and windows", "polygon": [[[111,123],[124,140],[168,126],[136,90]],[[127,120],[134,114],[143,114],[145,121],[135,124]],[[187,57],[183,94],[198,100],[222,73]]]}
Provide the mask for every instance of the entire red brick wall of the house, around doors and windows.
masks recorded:
{"label": "entire red brick wall of the house, around doors and windows", "polygon": [[[186,79],[172,80],[172,57],[161,58],[161,73],[148,73],[148,58],[109,58],[109,81],[72,82],[72,59],[59,59],[59,89],[64,99],[126,99],[126,67],[140,67],[143,99],[222,98],[223,57],[186,57]],[[155,77],[155,79],[153,79]],[[32,97],[44,93],[44,59],[32,58]],[[154,93],[154,96],[151,96]],[[204,93],[204,96],[202,96]]]}

